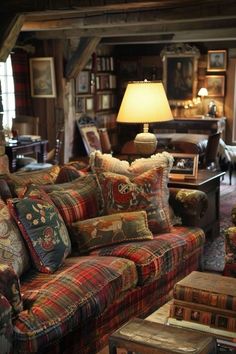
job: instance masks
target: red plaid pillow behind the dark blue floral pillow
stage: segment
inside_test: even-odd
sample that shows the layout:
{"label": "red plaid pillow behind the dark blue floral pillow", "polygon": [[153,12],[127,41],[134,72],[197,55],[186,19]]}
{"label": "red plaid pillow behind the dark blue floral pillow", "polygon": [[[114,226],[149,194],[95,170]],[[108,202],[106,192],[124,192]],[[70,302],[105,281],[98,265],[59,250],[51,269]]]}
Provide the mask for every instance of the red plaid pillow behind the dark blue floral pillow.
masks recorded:
{"label": "red plaid pillow behind the dark blue floral pillow", "polygon": [[72,222],[101,215],[102,196],[95,175],[89,174],[68,183],[28,188],[26,195],[41,198],[46,192],[67,226]]}

